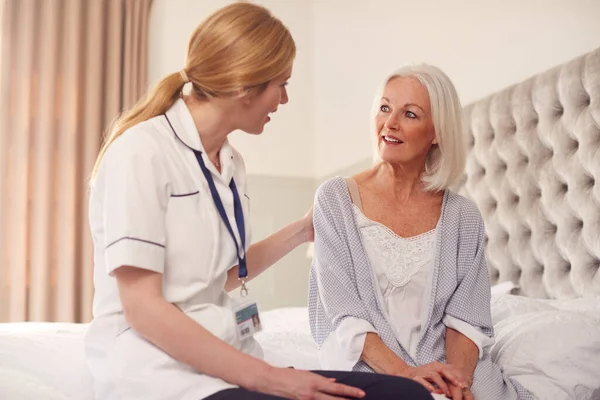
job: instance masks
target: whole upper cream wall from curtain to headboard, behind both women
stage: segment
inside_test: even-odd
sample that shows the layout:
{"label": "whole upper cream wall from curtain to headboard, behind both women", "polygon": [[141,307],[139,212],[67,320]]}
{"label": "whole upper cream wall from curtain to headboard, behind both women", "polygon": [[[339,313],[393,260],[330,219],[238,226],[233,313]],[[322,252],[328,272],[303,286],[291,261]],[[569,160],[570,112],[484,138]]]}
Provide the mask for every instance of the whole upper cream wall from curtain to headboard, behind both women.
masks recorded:
{"label": "whole upper cream wall from curtain to headboard, behind both women", "polygon": [[[150,83],[179,70],[188,38],[231,0],[155,0]],[[380,79],[444,69],[464,104],[600,46],[598,0],[259,0],[298,46],[290,103],[262,137],[236,133],[250,174],[320,178],[370,156]]]}

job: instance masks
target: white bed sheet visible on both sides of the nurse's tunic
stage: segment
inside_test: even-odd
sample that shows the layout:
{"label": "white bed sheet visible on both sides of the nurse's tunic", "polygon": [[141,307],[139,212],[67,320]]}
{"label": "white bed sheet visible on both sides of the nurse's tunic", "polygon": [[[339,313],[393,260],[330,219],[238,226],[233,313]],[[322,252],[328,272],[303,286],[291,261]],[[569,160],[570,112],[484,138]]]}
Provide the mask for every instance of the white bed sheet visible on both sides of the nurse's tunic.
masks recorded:
{"label": "white bed sheet visible on both sides of the nurse's tunic", "polygon": [[[306,308],[261,314],[257,340],[273,365],[318,369]],[[0,324],[0,400],[93,400],[84,358],[86,324]]]}

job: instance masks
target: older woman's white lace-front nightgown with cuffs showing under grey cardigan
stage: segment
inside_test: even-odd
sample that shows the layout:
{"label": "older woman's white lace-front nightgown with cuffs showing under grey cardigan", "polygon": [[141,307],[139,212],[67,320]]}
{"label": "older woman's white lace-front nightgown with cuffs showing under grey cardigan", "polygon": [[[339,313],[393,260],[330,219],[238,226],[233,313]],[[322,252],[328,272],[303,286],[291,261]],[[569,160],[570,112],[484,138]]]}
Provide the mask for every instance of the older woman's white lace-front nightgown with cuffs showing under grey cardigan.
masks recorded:
{"label": "older woman's white lace-front nightgown with cuffs showing under grey cardigan", "polygon": [[[403,238],[385,225],[367,218],[356,205],[353,209],[389,322],[402,347],[415,358],[421,321],[425,319],[424,313],[429,304],[437,227],[418,236]],[[494,343],[493,339],[464,321],[446,316],[443,322],[471,339],[479,348],[480,358],[483,351]],[[375,329],[358,319],[348,319],[342,325],[343,329],[337,331],[346,333],[341,334],[338,340],[352,349],[347,359],[350,366],[358,362],[367,333],[375,332]],[[324,346],[325,349],[327,347]],[[339,349],[332,350],[337,352]]]}

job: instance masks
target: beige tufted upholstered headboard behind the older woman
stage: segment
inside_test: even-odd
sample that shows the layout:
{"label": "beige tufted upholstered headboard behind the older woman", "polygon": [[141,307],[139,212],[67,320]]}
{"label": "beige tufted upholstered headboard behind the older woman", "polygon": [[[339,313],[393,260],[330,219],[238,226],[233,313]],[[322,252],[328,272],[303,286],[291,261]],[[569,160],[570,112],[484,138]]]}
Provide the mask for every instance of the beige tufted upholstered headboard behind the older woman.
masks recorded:
{"label": "beige tufted upholstered headboard behind the older woman", "polygon": [[465,107],[492,284],[600,296],[600,49]]}

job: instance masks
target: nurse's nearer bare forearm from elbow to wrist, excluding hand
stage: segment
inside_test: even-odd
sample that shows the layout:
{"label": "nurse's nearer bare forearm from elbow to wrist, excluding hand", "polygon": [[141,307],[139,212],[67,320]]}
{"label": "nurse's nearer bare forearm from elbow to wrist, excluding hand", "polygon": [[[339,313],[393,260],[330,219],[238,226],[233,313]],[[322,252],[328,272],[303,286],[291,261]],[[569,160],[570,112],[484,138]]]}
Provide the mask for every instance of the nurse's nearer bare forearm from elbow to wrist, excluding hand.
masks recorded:
{"label": "nurse's nearer bare forearm from elbow to wrist, excluding hand", "polygon": [[130,326],[198,372],[249,390],[270,373],[268,364],[220,340],[162,297],[146,298],[134,308],[126,314]]}

